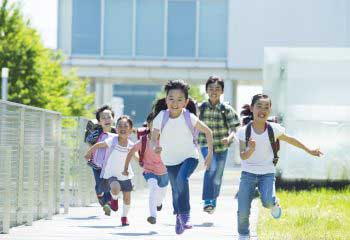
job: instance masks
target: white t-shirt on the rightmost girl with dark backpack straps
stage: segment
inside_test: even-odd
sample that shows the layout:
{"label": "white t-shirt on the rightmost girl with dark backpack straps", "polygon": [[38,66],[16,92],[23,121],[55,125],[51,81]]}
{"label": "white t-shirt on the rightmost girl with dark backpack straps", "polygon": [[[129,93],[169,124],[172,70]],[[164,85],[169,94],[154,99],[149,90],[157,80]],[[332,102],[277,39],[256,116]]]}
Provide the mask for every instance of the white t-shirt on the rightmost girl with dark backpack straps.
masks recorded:
{"label": "white t-shirt on the rightmost girl with dark backpack straps", "polygon": [[[285,128],[277,123],[269,123],[272,127],[275,139],[285,133]],[[246,142],[245,131],[247,126],[240,128],[237,132],[238,139]],[[251,138],[255,140],[255,151],[246,160],[242,160],[242,171],[254,174],[275,173],[273,165],[273,151],[269,140],[267,129],[262,134],[256,134],[252,126]]]}

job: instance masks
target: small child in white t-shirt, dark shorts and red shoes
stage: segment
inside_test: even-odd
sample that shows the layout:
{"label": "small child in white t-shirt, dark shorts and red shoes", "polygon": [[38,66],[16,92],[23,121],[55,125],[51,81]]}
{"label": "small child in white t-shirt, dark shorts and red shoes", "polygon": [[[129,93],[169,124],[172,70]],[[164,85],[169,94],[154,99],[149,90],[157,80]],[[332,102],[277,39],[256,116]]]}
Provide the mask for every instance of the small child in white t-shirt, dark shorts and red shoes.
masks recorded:
{"label": "small child in white t-shirt, dark shorts and red shoes", "polygon": [[101,184],[99,189],[102,191],[110,191],[112,201],[118,199],[120,191],[123,192],[123,213],[121,217],[122,226],[129,225],[127,214],[130,209],[130,198],[132,191],[131,178],[134,176],[131,166],[129,166],[129,175],[122,174],[126,156],[133,146],[133,142],[129,140],[129,135],[132,133],[132,120],[123,115],[117,120],[118,134],[109,133],[108,138],[93,145],[85,155],[89,157],[92,152],[98,148],[107,148],[101,171]]}

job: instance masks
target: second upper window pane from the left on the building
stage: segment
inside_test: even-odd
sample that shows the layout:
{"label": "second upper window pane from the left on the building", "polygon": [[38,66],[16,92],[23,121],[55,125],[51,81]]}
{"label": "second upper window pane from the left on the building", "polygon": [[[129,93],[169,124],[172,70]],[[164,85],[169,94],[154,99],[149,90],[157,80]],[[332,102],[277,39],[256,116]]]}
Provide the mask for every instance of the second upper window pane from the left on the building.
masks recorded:
{"label": "second upper window pane from the left on the building", "polygon": [[133,1],[105,0],[104,55],[132,54]]}

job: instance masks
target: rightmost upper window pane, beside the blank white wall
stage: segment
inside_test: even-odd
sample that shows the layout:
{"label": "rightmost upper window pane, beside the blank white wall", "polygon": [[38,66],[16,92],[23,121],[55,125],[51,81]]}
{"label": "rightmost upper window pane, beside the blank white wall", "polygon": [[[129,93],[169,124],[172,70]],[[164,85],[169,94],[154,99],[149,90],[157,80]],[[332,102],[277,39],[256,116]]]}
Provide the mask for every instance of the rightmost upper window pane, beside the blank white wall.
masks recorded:
{"label": "rightmost upper window pane, beside the blank white wall", "polygon": [[199,57],[226,57],[227,0],[201,0]]}

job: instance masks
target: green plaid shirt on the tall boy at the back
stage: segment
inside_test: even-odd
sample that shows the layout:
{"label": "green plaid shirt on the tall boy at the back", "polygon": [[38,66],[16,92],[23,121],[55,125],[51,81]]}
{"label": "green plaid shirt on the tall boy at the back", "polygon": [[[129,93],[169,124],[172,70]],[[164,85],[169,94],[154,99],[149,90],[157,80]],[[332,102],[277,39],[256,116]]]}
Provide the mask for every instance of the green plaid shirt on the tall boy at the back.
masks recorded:
{"label": "green plaid shirt on the tall boy at the back", "polygon": [[[226,116],[227,125],[224,123],[224,118],[221,113],[222,105],[225,109],[224,114]],[[199,119],[213,131],[214,152],[223,152],[227,150],[229,146],[222,144],[221,140],[228,137],[229,133],[235,131],[236,127],[240,125],[240,120],[236,111],[228,104],[218,103],[213,106],[209,101],[203,102],[200,109],[202,107],[203,111],[201,111]],[[204,133],[199,133],[198,143],[201,147],[207,146],[207,139]]]}

